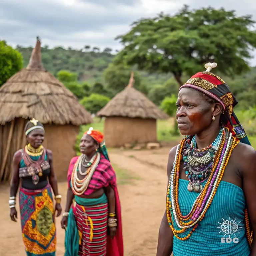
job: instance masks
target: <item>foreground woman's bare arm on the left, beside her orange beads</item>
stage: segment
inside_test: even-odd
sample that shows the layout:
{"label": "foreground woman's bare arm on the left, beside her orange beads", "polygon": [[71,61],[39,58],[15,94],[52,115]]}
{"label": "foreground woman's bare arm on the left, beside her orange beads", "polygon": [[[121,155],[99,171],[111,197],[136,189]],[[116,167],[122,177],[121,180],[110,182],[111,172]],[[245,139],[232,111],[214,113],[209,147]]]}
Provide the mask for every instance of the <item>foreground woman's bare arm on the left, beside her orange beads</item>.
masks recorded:
{"label": "foreground woman's bare arm on the left, beside her orange beads", "polygon": [[[175,159],[177,146],[172,148],[169,152],[168,164],[167,164],[167,187],[172,171],[173,162]],[[166,190],[167,192],[167,190]],[[166,197],[167,199],[167,197]],[[173,232],[169,226],[166,210],[162,218],[159,233],[156,256],[170,256],[173,247]]]}

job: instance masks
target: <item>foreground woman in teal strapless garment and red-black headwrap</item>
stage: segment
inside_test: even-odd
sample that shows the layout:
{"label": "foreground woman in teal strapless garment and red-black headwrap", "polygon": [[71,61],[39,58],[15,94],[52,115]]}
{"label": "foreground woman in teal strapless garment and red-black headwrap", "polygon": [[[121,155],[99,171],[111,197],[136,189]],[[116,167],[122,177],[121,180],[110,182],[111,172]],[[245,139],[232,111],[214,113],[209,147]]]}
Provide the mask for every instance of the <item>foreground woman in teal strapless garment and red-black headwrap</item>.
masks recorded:
{"label": "foreground woman in teal strapless garment and red-black headwrap", "polygon": [[157,256],[256,256],[256,151],[233,112],[235,97],[210,72],[216,66],[179,90],[185,137],[169,153]]}

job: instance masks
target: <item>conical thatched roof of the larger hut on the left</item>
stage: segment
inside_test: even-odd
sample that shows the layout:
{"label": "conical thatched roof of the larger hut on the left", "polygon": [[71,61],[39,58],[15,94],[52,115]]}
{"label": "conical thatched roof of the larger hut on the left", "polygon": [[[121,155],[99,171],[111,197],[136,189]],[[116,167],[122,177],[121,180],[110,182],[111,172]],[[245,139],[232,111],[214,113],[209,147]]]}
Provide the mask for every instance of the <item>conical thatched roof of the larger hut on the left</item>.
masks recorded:
{"label": "conical thatched roof of the larger hut on the left", "polygon": [[0,124],[16,117],[41,123],[82,125],[92,122],[89,112],[41,62],[41,42],[37,38],[29,64],[0,88]]}

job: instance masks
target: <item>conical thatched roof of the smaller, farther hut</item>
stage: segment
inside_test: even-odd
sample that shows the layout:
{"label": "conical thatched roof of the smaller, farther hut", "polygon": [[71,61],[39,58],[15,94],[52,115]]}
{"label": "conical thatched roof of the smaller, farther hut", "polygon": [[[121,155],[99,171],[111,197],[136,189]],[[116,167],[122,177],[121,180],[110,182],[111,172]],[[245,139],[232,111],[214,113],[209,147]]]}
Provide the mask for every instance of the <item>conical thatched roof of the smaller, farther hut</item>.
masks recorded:
{"label": "conical thatched roof of the smaller, farther hut", "polygon": [[134,87],[133,72],[128,86],[118,93],[102,108],[97,116],[100,117],[130,117],[167,119],[168,115],[162,112],[152,101]]}

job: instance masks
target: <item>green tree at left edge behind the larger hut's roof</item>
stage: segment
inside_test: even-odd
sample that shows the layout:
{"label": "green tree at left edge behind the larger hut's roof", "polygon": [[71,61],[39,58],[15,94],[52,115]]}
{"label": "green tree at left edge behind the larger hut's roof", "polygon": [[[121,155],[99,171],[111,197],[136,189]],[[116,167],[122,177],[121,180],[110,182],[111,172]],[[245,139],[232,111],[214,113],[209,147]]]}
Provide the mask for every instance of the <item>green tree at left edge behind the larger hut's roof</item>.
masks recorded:
{"label": "green tree at left edge behind the larger hut's roof", "polygon": [[23,60],[19,51],[0,41],[0,86],[22,69]]}

